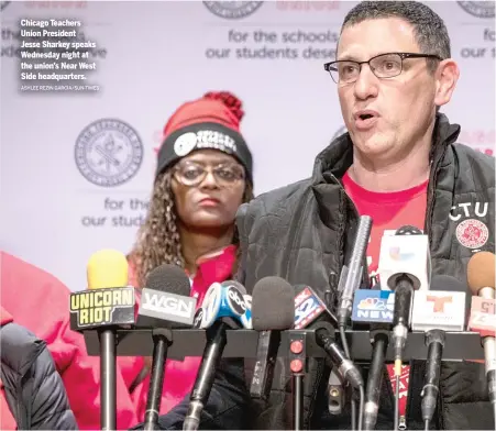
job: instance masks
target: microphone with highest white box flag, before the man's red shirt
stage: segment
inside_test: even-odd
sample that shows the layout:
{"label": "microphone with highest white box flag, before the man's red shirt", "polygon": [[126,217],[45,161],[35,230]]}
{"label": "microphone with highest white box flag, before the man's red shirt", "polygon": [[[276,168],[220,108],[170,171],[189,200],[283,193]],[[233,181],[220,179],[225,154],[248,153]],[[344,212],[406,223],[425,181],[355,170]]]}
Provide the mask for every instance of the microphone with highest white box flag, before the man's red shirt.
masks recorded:
{"label": "microphone with highest white box flag, before the man's red shirt", "polygon": [[395,353],[394,375],[395,429],[399,427],[399,382],[403,352],[407,342],[411,319],[414,290],[429,288],[430,283],[429,239],[410,225],[399,228],[395,235],[384,235],[381,242],[379,268],[382,286],[395,291],[393,313],[393,346]]}

